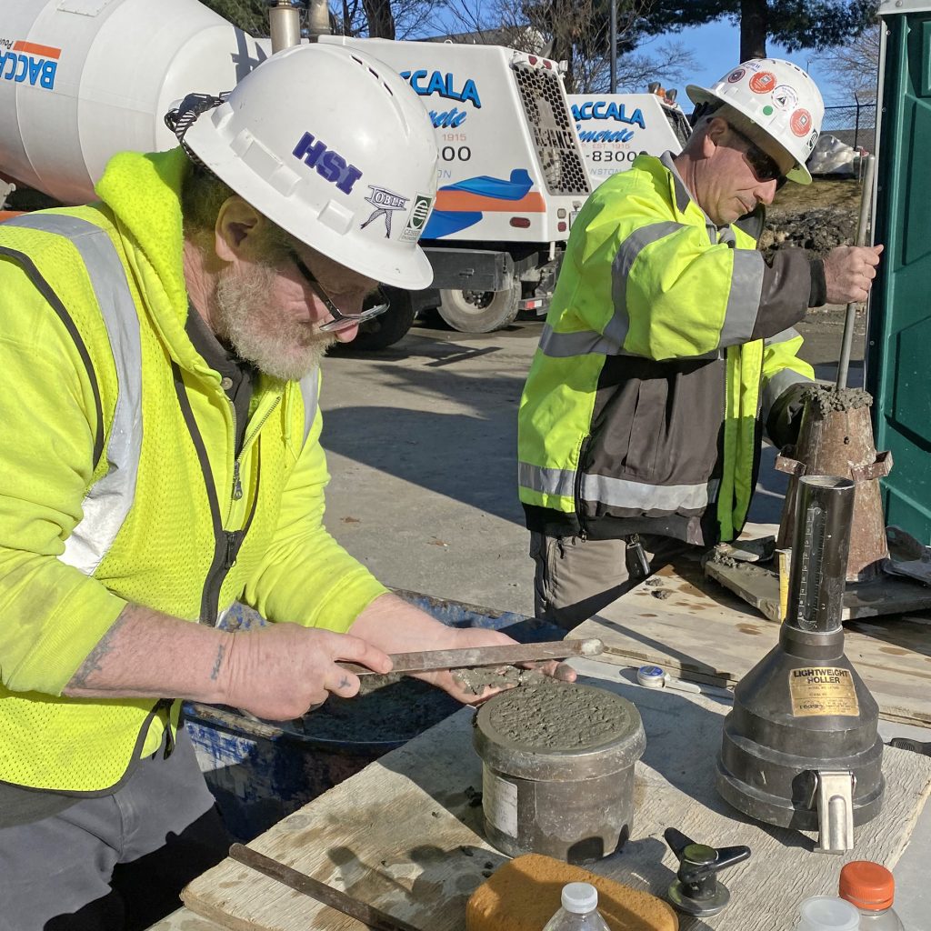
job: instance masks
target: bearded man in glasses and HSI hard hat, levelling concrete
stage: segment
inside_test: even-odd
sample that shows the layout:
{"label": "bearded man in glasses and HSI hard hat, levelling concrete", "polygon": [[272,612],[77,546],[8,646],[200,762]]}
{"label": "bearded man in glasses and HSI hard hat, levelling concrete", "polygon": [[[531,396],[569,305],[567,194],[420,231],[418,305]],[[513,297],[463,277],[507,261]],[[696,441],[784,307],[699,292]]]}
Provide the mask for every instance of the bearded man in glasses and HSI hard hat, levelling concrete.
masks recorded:
{"label": "bearded man in glasses and HSI hard hat, levelling concrete", "polygon": [[[99,203],[0,224],[2,931],[148,924],[223,856],[180,699],[286,720],[357,693],[337,661],[510,642],[389,594],[322,522],[319,359],[376,282],[431,279],[420,101],[296,47],[169,125]],[[235,600],[274,623],[216,627]]]}

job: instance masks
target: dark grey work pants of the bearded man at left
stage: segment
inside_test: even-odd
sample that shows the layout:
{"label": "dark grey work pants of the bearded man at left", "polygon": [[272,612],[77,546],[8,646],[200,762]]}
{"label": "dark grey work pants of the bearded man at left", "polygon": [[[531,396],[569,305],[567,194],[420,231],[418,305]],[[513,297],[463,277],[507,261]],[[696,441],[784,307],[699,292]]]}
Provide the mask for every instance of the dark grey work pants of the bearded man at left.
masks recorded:
{"label": "dark grey work pants of the bearded man at left", "polygon": [[180,908],[229,839],[182,730],[114,794],[0,829],[0,931],[134,931]]}

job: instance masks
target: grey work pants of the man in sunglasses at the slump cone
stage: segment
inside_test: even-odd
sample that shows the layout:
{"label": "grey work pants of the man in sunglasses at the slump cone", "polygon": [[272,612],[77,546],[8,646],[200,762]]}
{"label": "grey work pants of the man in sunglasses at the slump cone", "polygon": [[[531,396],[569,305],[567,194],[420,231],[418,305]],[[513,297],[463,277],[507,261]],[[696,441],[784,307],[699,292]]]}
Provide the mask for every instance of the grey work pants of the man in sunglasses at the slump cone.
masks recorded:
{"label": "grey work pants of the man in sunglasses at the slump cone", "polygon": [[[668,536],[641,533],[650,572],[662,569],[690,549]],[[537,617],[572,630],[627,591],[645,575],[634,550],[624,540],[531,533],[530,555],[536,563],[533,602]]]}

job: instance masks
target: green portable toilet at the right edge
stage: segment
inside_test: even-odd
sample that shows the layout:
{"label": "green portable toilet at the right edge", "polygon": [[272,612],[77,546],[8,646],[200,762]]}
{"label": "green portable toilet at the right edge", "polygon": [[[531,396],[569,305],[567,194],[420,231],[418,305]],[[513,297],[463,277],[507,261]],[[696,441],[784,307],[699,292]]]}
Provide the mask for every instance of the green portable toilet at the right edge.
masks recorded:
{"label": "green portable toilet at the right edge", "polygon": [[884,0],[866,385],[887,524],[931,543],[931,2]]}

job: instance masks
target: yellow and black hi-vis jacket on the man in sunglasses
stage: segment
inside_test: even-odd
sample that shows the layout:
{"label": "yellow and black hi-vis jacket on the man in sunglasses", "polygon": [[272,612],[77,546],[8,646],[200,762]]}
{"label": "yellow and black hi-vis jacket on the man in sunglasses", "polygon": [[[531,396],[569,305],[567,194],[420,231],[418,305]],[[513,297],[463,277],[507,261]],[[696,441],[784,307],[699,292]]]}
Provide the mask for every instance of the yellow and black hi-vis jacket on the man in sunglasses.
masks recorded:
{"label": "yellow and black hi-vis jacket on the man in sunglasses", "polygon": [[739,533],[760,429],[814,376],[791,329],[813,274],[802,250],[767,263],[753,236],[716,228],[668,153],[601,184],[573,223],[520,400],[528,527],[699,545]]}

